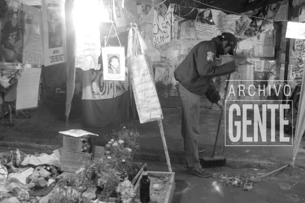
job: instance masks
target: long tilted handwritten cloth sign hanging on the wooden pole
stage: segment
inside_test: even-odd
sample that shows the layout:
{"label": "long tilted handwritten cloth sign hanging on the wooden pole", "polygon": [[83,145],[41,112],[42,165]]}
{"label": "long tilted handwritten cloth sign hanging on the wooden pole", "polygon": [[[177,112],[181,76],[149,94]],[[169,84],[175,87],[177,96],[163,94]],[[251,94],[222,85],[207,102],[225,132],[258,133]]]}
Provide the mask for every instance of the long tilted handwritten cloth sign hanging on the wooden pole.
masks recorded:
{"label": "long tilted handwritten cloth sign hanging on the wooden pole", "polygon": [[141,54],[131,56],[127,61],[140,123],[162,120],[163,114],[152,75],[150,58]]}

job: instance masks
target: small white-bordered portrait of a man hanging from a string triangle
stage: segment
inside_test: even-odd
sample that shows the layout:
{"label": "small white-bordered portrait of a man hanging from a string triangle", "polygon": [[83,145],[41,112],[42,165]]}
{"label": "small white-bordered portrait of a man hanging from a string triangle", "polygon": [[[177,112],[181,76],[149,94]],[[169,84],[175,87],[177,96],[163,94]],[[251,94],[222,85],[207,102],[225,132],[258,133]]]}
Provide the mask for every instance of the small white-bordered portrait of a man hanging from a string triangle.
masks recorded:
{"label": "small white-bordered portrait of a man hanging from a string triangle", "polygon": [[125,49],[102,47],[104,80],[125,80]]}

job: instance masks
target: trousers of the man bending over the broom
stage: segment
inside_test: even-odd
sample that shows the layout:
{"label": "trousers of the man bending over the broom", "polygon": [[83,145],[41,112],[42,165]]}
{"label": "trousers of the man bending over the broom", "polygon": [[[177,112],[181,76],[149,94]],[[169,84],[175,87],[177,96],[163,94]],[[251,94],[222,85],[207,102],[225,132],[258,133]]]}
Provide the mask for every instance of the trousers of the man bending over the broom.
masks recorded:
{"label": "trousers of the man bending over the broom", "polygon": [[178,94],[182,105],[181,135],[184,139],[184,151],[187,170],[201,168],[198,154],[200,96],[191,93],[180,83]]}

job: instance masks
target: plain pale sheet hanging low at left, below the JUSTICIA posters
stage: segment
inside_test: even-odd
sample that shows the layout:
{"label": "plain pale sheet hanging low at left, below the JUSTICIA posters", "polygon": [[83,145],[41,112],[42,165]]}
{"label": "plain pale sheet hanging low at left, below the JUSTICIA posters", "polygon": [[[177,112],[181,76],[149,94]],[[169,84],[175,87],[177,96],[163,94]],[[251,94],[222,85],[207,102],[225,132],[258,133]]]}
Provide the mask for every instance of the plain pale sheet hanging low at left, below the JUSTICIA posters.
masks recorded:
{"label": "plain pale sheet hanging low at left, below the JUSTICIA posters", "polygon": [[17,82],[16,110],[26,110],[38,106],[41,68],[27,64]]}

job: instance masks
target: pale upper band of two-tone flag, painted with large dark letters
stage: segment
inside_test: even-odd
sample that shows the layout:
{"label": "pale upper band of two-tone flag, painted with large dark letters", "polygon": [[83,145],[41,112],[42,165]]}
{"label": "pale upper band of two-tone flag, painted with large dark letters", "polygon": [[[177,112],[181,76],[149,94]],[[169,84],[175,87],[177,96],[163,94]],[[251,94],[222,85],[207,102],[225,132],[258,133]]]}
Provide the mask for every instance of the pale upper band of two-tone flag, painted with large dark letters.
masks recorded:
{"label": "pale upper band of two-tone flag, painted with large dark letters", "polygon": [[125,81],[104,80],[103,68],[99,70],[84,71],[83,76],[83,100],[104,100],[120,96],[127,91],[128,82],[128,68],[125,67],[124,73]]}

